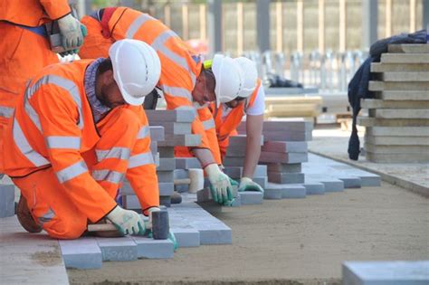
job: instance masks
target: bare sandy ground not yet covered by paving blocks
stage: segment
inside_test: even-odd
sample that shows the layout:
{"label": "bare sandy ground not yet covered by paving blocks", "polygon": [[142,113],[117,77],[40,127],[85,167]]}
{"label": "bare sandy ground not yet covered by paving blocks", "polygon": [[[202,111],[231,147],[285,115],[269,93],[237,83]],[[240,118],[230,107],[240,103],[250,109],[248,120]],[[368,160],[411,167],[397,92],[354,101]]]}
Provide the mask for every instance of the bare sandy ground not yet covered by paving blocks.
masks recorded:
{"label": "bare sandy ground not yet covered by paving blocks", "polygon": [[429,259],[429,200],[381,187],[263,201],[218,215],[232,245],[68,270],[71,284],[339,284],[343,261]]}

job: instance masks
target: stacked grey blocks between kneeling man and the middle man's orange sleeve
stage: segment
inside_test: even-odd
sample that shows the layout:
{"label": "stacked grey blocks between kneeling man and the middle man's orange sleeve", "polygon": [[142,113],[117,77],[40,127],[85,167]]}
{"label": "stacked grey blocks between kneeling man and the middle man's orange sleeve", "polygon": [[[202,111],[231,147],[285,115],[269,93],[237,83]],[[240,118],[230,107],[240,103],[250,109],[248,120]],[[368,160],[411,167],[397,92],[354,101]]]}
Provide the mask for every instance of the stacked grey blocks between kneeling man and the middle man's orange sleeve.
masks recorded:
{"label": "stacked grey blocks between kneeling man and the middle man's orange sleeve", "polygon": [[175,185],[176,158],[175,147],[195,147],[201,143],[201,136],[193,135],[192,122],[195,119],[195,109],[175,110],[146,110],[150,126],[161,126],[165,130],[164,140],[157,142],[159,166],[157,180],[159,184],[159,203],[171,204]]}

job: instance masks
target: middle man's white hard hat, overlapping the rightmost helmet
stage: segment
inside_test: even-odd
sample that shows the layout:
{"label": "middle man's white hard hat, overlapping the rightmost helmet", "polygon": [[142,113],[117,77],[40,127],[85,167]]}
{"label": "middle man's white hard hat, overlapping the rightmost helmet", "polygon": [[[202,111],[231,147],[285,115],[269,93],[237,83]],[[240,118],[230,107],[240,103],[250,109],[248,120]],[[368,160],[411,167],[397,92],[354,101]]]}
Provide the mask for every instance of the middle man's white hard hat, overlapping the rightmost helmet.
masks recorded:
{"label": "middle man's white hard hat, overlapping the rightmost helmet", "polygon": [[216,54],[212,62],[215,75],[216,106],[234,100],[243,89],[243,72],[229,56]]}

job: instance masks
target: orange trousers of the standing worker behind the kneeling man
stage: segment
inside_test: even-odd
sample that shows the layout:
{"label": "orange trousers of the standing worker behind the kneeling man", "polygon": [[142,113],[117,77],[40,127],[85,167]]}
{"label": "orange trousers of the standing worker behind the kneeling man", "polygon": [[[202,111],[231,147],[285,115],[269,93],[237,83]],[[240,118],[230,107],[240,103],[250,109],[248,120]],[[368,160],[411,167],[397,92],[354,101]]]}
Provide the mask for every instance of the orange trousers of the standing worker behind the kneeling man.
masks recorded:
{"label": "orange trousers of the standing worker behind the kneeling man", "polygon": [[[20,26],[0,21],[0,151],[3,132],[25,82],[46,65],[59,62],[48,40]],[[1,154],[1,152],[0,152]],[[3,170],[0,155],[0,173]]]}

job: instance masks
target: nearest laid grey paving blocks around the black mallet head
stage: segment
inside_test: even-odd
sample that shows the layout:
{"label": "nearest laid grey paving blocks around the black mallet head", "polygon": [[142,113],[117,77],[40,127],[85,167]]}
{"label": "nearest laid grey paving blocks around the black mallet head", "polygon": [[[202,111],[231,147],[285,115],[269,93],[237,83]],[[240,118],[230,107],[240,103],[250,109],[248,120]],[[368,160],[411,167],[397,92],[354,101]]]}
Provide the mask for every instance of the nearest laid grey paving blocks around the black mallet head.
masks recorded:
{"label": "nearest laid grey paving blocks around the black mallet head", "polygon": [[[182,204],[173,204],[168,208],[170,231],[175,233],[179,248],[233,242],[231,228],[195,204],[195,194],[185,194],[183,199]],[[168,259],[174,255],[171,241],[144,236],[88,236],[59,242],[65,266],[75,269],[97,269],[103,261]]]}

